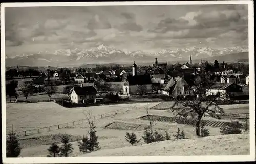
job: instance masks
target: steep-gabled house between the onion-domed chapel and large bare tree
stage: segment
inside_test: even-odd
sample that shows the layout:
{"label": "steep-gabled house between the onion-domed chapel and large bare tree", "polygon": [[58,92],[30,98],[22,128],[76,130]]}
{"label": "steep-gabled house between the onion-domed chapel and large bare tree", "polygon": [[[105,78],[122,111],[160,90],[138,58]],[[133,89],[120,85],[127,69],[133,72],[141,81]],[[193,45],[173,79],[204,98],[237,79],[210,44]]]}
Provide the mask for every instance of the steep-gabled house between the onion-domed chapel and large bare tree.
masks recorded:
{"label": "steep-gabled house between the onion-domed chapel and large bare tree", "polygon": [[193,91],[190,89],[184,77],[178,76],[178,77],[173,77],[169,80],[162,94],[172,96],[172,97],[185,98],[186,96],[189,96],[192,92]]}

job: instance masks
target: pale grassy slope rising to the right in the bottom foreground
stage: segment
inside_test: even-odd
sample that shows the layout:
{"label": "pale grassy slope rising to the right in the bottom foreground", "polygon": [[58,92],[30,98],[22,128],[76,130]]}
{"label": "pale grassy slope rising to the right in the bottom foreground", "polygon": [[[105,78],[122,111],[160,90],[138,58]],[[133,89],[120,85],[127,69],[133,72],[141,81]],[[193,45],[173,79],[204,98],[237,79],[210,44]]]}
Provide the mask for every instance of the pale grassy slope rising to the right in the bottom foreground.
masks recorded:
{"label": "pale grassy slope rising to the right in the bottom foreground", "polygon": [[249,145],[249,134],[233,134],[98,150],[82,156],[249,155]]}

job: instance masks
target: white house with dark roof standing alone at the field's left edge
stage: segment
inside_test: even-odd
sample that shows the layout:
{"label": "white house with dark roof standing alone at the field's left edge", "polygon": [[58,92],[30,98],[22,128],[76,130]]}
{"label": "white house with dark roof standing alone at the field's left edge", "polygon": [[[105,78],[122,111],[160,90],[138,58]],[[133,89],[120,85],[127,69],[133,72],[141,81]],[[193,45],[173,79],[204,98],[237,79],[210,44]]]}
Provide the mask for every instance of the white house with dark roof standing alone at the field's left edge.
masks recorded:
{"label": "white house with dark roof standing alone at the field's left edge", "polygon": [[95,103],[96,94],[98,94],[98,91],[93,86],[75,86],[70,90],[70,99],[73,103]]}

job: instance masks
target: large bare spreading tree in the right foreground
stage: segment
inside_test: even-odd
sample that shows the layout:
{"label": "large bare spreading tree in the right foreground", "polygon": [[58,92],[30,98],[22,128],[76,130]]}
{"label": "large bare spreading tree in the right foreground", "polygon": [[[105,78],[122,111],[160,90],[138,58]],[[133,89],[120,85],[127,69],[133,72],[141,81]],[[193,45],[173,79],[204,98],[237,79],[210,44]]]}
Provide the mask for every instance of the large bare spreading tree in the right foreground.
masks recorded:
{"label": "large bare spreading tree in the right foreground", "polygon": [[200,123],[205,113],[211,117],[220,119],[222,108],[216,102],[217,99],[224,95],[220,92],[207,96],[211,87],[215,85],[215,81],[210,78],[208,73],[199,74],[193,79],[193,84],[189,86],[189,90],[193,91],[195,99],[185,99],[177,101],[178,116],[188,117],[189,115],[195,120],[196,135],[201,135]]}

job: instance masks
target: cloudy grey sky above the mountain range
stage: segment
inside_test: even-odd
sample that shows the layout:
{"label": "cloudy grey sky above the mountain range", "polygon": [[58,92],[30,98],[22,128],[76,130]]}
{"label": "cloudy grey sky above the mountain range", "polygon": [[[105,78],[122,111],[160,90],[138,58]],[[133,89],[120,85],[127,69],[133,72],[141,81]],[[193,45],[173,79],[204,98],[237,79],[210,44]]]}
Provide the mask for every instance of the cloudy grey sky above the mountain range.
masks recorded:
{"label": "cloudy grey sky above the mountain range", "polygon": [[6,7],[8,57],[91,49],[248,46],[248,5]]}

